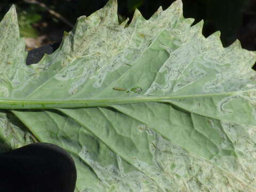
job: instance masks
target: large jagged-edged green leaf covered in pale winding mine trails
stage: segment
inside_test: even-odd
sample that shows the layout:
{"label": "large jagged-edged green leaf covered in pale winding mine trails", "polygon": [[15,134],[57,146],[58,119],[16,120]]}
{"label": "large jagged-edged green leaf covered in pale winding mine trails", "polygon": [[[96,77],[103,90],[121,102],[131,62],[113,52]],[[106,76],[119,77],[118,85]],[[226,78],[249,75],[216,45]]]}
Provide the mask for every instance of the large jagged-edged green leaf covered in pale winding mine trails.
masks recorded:
{"label": "large jagged-edged green leaf covered in pale winding mine trails", "polygon": [[26,66],[12,7],[0,23],[0,139],[65,148],[81,192],[255,191],[255,52],[205,38],[180,0],[126,23],[110,0]]}

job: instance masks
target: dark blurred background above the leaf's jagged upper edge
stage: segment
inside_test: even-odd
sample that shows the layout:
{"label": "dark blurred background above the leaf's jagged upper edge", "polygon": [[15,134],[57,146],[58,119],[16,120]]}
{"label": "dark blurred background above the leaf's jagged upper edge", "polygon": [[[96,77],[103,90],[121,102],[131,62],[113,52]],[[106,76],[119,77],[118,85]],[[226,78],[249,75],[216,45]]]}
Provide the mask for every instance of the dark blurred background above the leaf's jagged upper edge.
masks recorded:
{"label": "dark blurred background above the leaf's jagged upper edge", "polygon": [[[166,9],[173,0],[117,0],[119,21],[132,19],[135,9],[149,19],[159,6]],[[21,36],[27,50],[60,42],[63,31],[70,31],[81,15],[89,16],[108,0],[1,0],[0,19],[15,4]],[[203,35],[221,31],[223,46],[239,39],[242,47],[256,51],[256,0],[182,0],[185,18],[204,20]],[[254,67],[256,67],[254,65]]]}

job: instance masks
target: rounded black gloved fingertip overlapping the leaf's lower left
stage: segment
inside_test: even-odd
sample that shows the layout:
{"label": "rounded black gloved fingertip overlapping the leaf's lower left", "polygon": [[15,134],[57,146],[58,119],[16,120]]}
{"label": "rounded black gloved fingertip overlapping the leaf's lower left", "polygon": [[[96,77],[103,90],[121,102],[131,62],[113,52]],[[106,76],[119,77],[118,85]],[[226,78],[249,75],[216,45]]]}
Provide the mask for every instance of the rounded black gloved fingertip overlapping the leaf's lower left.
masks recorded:
{"label": "rounded black gloved fingertip overlapping the leaf's lower left", "polygon": [[73,192],[76,166],[71,156],[51,143],[31,143],[0,154],[0,191]]}

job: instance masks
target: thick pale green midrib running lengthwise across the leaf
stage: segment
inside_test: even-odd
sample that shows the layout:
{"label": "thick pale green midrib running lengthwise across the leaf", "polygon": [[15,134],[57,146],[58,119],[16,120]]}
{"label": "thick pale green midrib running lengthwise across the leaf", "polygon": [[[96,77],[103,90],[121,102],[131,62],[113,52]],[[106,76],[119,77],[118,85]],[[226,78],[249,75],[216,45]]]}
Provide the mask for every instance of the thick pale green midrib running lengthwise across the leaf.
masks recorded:
{"label": "thick pale green midrib running lengthwise across the leaf", "polygon": [[[252,92],[255,90],[246,90]],[[238,95],[241,91],[226,93],[207,93],[207,94],[190,94],[190,95],[169,95],[169,96],[138,96],[122,98],[97,98],[97,99],[6,99],[0,98],[0,108],[2,109],[55,109],[55,108],[77,108],[77,107],[101,107],[109,105],[120,105],[139,102],[169,102],[172,99],[188,98],[206,98],[228,95]]]}

